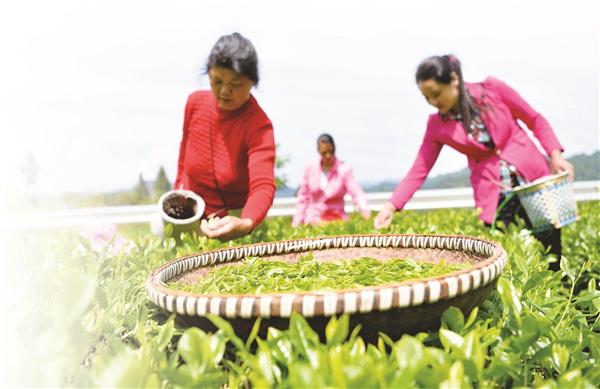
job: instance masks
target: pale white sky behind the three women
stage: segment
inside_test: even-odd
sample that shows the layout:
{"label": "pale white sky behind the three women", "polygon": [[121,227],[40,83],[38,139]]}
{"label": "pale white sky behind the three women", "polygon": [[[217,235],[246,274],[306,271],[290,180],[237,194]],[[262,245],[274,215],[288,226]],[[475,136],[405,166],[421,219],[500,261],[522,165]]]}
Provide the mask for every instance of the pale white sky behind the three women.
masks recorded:
{"label": "pale white sky behind the three women", "polygon": [[[253,91],[299,183],[328,132],[360,182],[399,180],[434,112],[419,62],[454,53],[467,81],[494,75],[554,127],[565,155],[600,147],[597,1],[3,2],[3,192],[31,153],[40,193],[133,186],[176,173],[187,96],[224,34],[255,45]],[[432,175],[466,167],[445,148]]]}

